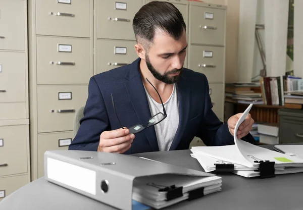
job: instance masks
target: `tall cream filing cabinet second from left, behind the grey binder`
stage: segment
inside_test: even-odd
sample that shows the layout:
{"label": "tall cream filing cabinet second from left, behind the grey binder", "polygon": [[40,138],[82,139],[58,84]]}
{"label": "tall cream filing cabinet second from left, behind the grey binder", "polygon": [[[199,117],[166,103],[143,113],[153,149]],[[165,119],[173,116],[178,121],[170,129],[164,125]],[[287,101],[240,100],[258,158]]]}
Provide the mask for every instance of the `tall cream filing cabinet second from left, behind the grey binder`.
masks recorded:
{"label": "tall cream filing cabinet second from left, behind the grey binder", "polygon": [[[86,103],[93,76],[93,0],[28,0],[28,8],[31,179],[35,180],[43,176],[42,154],[57,148],[51,137],[72,132],[75,114]],[[68,149],[70,142],[60,149]]]}

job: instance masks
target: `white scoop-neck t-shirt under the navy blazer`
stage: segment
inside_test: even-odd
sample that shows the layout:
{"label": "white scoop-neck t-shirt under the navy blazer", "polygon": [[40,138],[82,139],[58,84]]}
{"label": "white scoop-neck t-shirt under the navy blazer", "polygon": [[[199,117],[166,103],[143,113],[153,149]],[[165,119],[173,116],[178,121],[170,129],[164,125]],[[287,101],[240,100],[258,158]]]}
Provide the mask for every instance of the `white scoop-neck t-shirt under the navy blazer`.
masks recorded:
{"label": "white scoop-neck t-shirt under the navy blazer", "polygon": [[[144,87],[145,88],[145,87]],[[147,101],[151,116],[163,113],[163,107],[161,103],[155,101],[145,89],[147,95]],[[160,151],[169,150],[179,125],[179,105],[177,97],[177,85],[174,84],[172,94],[165,101],[164,107],[167,117],[157,125],[155,125],[156,136],[158,140],[158,146]]]}

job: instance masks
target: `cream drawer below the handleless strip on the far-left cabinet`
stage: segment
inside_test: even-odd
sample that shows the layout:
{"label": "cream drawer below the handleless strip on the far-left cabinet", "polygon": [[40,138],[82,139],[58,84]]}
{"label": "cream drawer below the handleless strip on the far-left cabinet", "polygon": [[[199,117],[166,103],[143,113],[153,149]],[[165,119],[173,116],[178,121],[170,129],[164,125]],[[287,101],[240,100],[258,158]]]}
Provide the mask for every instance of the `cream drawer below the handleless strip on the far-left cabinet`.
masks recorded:
{"label": "cream drawer below the handleless strip on the far-left cabinet", "polygon": [[26,125],[0,126],[0,176],[27,172]]}

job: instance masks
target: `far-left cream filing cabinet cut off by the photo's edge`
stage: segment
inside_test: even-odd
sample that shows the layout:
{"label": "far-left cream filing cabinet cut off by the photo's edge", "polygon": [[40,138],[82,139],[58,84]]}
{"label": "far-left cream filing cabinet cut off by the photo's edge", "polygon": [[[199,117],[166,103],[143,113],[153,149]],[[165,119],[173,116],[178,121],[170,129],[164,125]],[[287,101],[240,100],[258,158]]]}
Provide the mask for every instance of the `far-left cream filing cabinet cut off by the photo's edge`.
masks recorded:
{"label": "far-left cream filing cabinet cut off by the photo's edge", "polygon": [[0,1],[0,201],[30,182],[27,1]]}

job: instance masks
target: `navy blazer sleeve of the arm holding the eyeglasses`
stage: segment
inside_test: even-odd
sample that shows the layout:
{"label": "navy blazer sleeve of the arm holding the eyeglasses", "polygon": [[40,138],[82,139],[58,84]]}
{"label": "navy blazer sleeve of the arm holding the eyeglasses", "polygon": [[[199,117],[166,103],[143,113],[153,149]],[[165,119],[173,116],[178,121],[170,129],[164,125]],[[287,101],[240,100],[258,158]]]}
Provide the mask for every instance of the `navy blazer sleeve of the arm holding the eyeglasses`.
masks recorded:
{"label": "navy blazer sleeve of the arm holding the eyeglasses", "polygon": [[96,151],[100,134],[109,130],[110,126],[105,102],[94,77],[89,80],[88,98],[83,114],[79,130],[69,145],[69,150]]}

